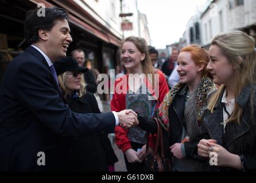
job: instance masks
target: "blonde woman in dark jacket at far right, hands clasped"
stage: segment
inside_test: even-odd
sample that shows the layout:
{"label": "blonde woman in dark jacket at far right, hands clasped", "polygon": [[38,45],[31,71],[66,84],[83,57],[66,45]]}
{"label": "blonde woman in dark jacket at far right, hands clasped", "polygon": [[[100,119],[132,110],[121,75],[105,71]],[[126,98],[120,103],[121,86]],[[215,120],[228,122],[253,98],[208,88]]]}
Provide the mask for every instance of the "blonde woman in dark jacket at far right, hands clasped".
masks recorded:
{"label": "blonde woman in dark jacket at far right, hands clasped", "polygon": [[220,88],[208,101],[197,152],[208,158],[205,170],[256,170],[255,40],[242,31],[221,34],[209,54]]}

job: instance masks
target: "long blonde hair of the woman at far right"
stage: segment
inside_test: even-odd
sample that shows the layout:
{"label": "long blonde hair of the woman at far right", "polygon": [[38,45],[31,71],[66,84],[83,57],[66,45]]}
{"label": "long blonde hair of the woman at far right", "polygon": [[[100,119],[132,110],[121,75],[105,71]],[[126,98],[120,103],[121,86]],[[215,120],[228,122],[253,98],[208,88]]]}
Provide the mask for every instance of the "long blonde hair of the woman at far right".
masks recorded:
{"label": "long blonde hair of the woman at far right", "polygon": [[[255,40],[242,31],[232,31],[230,33],[217,35],[212,39],[211,45],[220,48],[222,54],[235,67],[235,98],[239,96],[242,89],[247,85],[251,86],[250,106],[251,117],[253,117],[253,85],[256,83],[256,51]],[[207,108],[214,112],[214,106],[218,98],[225,89],[225,85],[221,85],[219,90],[212,94]],[[243,108],[235,102],[235,108],[230,119],[227,122],[240,122]]]}

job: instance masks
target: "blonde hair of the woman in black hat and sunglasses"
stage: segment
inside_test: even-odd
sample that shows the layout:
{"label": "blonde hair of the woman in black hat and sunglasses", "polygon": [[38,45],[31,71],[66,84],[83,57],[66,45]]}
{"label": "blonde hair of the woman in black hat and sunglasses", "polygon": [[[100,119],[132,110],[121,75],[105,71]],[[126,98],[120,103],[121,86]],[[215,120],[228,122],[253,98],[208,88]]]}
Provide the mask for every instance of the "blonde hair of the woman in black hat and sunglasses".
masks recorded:
{"label": "blonde hair of the woman in black hat and sunglasses", "polygon": [[[65,100],[67,100],[67,97],[68,97],[68,94],[69,94],[67,86],[65,85],[65,80],[67,78],[67,72],[68,71],[66,71],[65,73],[60,74],[58,76],[58,81],[59,81],[60,89],[63,92]],[[82,75],[82,77],[80,79],[80,89],[78,91],[79,98],[83,97],[84,94],[86,94],[86,82],[84,82],[84,77]]]}

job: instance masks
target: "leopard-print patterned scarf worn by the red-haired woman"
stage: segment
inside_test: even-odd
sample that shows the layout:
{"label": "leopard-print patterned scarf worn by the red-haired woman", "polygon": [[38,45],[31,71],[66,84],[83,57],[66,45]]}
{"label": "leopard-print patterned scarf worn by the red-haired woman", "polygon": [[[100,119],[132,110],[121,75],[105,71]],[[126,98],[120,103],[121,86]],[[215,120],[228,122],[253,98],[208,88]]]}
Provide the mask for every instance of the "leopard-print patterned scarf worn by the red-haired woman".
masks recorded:
{"label": "leopard-print patterned scarf worn by the red-haired woman", "polygon": [[[160,124],[162,125],[162,127],[169,131],[169,117],[168,117],[168,110],[170,108],[170,105],[173,102],[174,97],[176,96],[177,93],[179,93],[179,91],[181,89],[183,89],[185,87],[186,84],[184,83],[177,83],[177,85],[175,85],[168,94],[166,94],[164,101],[162,102],[162,104],[158,107],[157,109],[157,116],[158,116],[158,120],[160,120]],[[214,92],[214,90],[216,90],[216,86],[214,84],[214,82],[212,82],[212,79],[210,79],[209,77],[207,77],[207,75],[204,75],[200,82],[197,84],[196,87],[196,91],[197,91],[197,95],[195,97],[195,101],[196,101],[196,113],[197,113],[197,122],[201,122],[201,117],[203,115],[204,112],[204,106],[205,106],[205,101],[206,98],[208,96],[208,94]]]}

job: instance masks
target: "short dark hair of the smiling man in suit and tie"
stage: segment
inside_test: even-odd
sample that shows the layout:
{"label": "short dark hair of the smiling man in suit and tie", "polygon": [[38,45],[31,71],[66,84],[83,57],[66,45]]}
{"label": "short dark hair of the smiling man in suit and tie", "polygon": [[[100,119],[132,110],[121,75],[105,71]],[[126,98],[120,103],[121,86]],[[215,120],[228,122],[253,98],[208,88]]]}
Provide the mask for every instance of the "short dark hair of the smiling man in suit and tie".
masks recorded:
{"label": "short dark hair of the smiling man in suit and tie", "polygon": [[38,10],[40,9],[30,10],[26,13],[24,37],[29,45],[39,40],[38,31],[40,29],[51,31],[56,21],[68,19],[67,11],[60,7],[46,7],[45,16],[41,17],[37,15]]}

